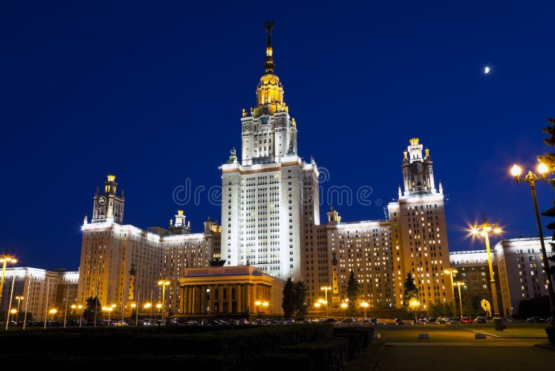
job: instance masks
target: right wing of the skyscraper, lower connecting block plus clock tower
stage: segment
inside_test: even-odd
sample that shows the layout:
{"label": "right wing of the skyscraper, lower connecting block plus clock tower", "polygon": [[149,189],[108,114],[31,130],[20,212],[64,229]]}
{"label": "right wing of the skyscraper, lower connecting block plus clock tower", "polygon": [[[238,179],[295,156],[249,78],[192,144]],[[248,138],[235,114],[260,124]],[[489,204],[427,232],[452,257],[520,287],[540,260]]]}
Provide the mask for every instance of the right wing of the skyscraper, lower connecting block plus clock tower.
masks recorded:
{"label": "right wing of the skyscraper, lower connecting block plus clock tower", "polygon": [[327,224],[305,224],[308,304],[323,297],[321,287],[332,286],[330,306],[338,308],[351,270],[370,308],[401,307],[408,272],[423,309],[452,301],[450,279],[443,275],[450,266],[443,188],[440,183],[436,190],[432,158],[428,149],[422,156],[418,138],[404,152],[402,174],[404,192],[400,188],[398,200],[388,204],[388,220],[341,222],[332,207]]}

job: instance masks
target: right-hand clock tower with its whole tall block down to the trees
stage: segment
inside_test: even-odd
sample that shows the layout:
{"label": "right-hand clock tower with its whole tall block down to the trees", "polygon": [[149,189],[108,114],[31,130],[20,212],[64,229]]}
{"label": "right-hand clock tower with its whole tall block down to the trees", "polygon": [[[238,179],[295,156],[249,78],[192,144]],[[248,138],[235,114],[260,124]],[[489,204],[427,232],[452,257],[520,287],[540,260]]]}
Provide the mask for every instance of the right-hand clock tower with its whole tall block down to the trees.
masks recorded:
{"label": "right-hand clock tower with its whole tall block down to the trees", "polygon": [[396,302],[404,303],[403,283],[410,273],[419,290],[421,308],[452,302],[450,281],[443,270],[450,267],[445,199],[439,182],[436,190],[432,158],[418,138],[411,138],[403,152],[403,191],[388,204],[391,244],[396,260]]}

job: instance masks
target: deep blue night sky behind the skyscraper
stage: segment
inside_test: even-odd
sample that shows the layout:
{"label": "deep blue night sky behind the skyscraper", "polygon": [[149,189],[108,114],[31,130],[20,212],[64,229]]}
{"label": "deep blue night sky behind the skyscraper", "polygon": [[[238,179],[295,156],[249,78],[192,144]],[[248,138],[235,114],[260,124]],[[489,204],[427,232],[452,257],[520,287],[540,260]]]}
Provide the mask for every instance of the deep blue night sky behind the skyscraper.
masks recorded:
{"label": "deep blue night sky behind the skyscraper", "polygon": [[[185,179],[219,185],[241,108],[255,105],[268,17],[300,155],[327,169],[325,187],[373,188],[371,206],[335,205],[343,221],[384,218],[375,201],[397,196],[418,136],[452,251],[484,249],[461,231],[482,212],[504,238],[537,235],[529,188],[508,170],[549,150],[553,1],[85,3],[0,3],[0,249],[22,265],[78,267],[108,173],[142,228],[167,226]],[[545,210],[553,192],[541,184],[538,198]],[[205,192],[183,207],[194,231],[221,218]]]}

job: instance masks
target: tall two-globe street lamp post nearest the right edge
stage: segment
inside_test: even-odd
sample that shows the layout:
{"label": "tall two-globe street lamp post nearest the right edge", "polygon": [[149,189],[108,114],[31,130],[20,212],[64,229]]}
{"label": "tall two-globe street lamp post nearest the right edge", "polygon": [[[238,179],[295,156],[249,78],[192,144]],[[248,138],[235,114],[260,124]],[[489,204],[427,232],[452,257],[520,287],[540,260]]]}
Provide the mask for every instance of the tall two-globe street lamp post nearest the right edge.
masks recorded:
{"label": "tall two-globe street lamp post nearest the right edge", "polygon": [[553,282],[551,276],[549,274],[549,260],[547,259],[547,252],[545,252],[545,243],[543,242],[543,231],[542,231],[542,224],[540,222],[540,213],[538,211],[538,198],[536,197],[536,181],[538,180],[552,180],[547,179],[545,174],[549,172],[547,165],[540,163],[538,165],[538,172],[542,176],[537,176],[533,174],[531,170],[529,170],[528,174],[524,176],[524,178],[520,178],[520,174],[522,174],[522,169],[518,165],[513,165],[511,168],[511,174],[516,179],[517,183],[521,181],[528,182],[530,186],[530,191],[532,193],[532,201],[533,201],[533,210],[536,213],[536,224],[538,225],[538,235],[540,237],[540,246],[542,247],[542,259],[543,259],[543,272],[545,274],[545,280],[547,281],[547,294],[549,295],[549,306],[551,307],[551,318],[552,318],[552,325],[555,326],[555,293],[553,292]]}

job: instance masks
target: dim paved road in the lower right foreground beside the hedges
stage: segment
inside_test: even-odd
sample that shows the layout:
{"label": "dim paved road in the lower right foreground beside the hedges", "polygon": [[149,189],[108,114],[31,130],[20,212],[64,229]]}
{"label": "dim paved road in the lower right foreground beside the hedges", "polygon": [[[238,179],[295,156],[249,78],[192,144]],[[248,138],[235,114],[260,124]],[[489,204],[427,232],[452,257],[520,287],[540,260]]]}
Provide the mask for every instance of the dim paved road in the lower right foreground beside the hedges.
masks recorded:
{"label": "dim paved road in the lower right foreground beside the hedges", "polygon": [[[428,324],[377,325],[375,333],[385,347],[377,359],[353,363],[348,370],[432,370],[432,371],[543,371],[555,370],[555,352],[536,344],[545,339],[475,339],[475,333],[450,326]],[[427,333],[429,339],[419,339]],[[374,361],[375,368],[371,367]]]}

